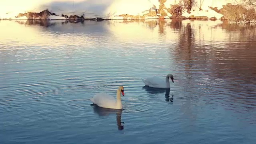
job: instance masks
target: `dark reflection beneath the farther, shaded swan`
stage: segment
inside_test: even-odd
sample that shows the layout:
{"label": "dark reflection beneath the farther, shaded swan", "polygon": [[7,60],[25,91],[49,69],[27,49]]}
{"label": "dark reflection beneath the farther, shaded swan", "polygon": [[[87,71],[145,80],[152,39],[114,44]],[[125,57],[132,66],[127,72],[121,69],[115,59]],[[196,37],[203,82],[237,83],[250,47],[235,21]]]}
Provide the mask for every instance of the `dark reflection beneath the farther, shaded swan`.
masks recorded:
{"label": "dark reflection beneath the farther, shaded swan", "polygon": [[148,94],[161,94],[165,92],[166,102],[173,102],[173,94],[170,96],[170,88],[152,88],[149,86],[143,86]]}

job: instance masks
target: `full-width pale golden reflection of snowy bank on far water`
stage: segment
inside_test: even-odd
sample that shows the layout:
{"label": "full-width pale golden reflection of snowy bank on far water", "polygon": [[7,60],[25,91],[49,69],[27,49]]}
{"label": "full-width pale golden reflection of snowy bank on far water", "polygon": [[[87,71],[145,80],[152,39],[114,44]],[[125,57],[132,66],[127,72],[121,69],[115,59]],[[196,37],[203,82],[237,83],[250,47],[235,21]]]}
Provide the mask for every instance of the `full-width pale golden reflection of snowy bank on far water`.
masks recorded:
{"label": "full-width pale golden reflection of snowy bank on far water", "polygon": [[[187,40],[193,40],[195,44],[212,45],[218,42],[218,45],[221,45],[222,42],[238,42],[244,37],[241,35],[244,33],[253,36],[256,29],[230,25],[220,20],[111,20],[78,23],[60,20],[17,20],[16,22],[2,21],[1,27],[0,40],[8,41],[12,35],[17,41],[11,45],[18,44],[19,46],[26,46],[27,43],[34,46],[47,45],[47,41],[54,40],[56,46],[67,46],[74,42],[81,46],[85,44],[103,46],[108,44],[108,41],[115,41],[126,45],[137,43],[166,47],[175,46],[180,40],[184,40],[186,36],[181,36],[181,34],[188,34],[186,30],[191,33]],[[238,32],[238,30],[243,32]],[[42,32],[44,37],[41,35]],[[107,34],[111,37],[109,40],[102,41],[99,33],[102,33],[102,36]],[[170,45],[166,45],[166,42]]]}

